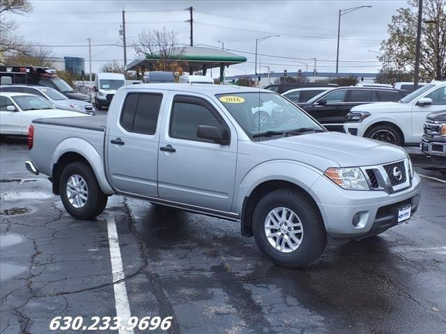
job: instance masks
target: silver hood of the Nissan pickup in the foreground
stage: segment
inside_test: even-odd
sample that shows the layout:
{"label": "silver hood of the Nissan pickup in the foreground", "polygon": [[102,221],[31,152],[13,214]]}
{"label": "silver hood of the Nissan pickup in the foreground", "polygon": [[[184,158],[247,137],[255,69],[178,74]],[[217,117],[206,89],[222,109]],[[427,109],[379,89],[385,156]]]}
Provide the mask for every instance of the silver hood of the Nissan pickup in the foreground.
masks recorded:
{"label": "silver hood of the Nissan pickup in the foreground", "polygon": [[[302,154],[316,155],[325,160],[328,159],[332,161],[330,167],[371,166],[407,157],[406,151],[398,146],[339,132],[302,134],[259,143],[283,150],[292,150],[300,156]],[[292,155],[290,157],[293,159]],[[325,166],[314,167],[325,169]]]}

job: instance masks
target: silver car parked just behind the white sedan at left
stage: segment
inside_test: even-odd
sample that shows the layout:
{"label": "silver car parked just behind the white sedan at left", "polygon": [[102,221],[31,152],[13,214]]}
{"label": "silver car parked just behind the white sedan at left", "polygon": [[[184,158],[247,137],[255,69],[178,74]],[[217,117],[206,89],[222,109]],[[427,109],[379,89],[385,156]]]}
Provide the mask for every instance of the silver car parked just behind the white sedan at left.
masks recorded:
{"label": "silver car parked just behind the white sedan at left", "polygon": [[57,90],[45,86],[3,85],[0,86],[0,91],[33,94],[48,100],[57,109],[95,114],[95,109],[91,103],[68,99],[68,97]]}

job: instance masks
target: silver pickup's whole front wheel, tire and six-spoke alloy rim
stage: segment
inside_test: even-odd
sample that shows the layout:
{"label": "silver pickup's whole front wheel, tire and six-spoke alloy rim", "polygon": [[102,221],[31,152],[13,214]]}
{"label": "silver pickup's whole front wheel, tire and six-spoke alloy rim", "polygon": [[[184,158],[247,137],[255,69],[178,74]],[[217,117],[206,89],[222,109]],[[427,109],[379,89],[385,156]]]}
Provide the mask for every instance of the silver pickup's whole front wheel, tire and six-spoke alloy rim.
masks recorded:
{"label": "silver pickup's whole front wheel, tire and six-spoke alloy rim", "polygon": [[261,252],[283,267],[314,262],[327,244],[317,207],[295,189],[279,189],[264,196],[254,209],[252,230]]}

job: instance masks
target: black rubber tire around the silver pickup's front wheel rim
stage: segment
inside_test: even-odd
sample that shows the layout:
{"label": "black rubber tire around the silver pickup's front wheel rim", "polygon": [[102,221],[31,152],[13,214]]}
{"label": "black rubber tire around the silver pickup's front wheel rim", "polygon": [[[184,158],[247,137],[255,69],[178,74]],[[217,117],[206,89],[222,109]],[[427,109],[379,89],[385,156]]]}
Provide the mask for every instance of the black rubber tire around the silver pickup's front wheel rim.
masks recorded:
{"label": "black rubber tire around the silver pickup's front wheel rim", "polygon": [[[300,237],[300,244],[294,250],[291,247],[285,247],[284,251],[279,250],[270,244],[270,239],[266,236],[268,216],[273,210],[280,208],[286,208],[297,216],[298,220],[294,219],[294,223],[300,221],[300,228],[291,227],[295,231],[303,230],[301,233],[295,232],[293,234],[291,232],[295,238],[299,239]],[[280,212],[279,216],[281,216]],[[284,228],[284,225],[286,224],[284,223],[281,229]],[[281,231],[279,229],[272,230]],[[272,230],[269,232],[272,232]],[[290,230],[289,226],[284,228],[284,232],[287,230]],[[252,231],[257,247],[263,255],[268,257],[271,262],[282,267],[299,268],[307,266],[321,256],[327,245],[327,234],[317,207],[305,194],[296,189],[279,189],[261,198],[254,209]],[[287,238],[293,243],[291,237],[287,236]],[[277,238],[275,241],[277,242]],[[289,246],[289,244],[285,246]]]}

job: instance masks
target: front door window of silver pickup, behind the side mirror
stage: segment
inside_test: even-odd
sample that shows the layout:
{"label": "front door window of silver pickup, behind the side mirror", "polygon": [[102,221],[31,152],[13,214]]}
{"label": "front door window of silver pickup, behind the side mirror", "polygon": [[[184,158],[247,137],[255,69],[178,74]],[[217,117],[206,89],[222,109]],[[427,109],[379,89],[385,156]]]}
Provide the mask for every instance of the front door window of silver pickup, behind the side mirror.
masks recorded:
{"label": "front door window of silver pickup, behind the side mirror", "polygon": [[205,106],[174,102],[169,130],[172,138],[180,138],[187,141],[206,141],[197,136],[197,128],[199,125],[222,126],[219,120]]}

